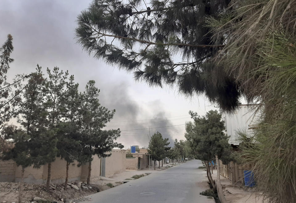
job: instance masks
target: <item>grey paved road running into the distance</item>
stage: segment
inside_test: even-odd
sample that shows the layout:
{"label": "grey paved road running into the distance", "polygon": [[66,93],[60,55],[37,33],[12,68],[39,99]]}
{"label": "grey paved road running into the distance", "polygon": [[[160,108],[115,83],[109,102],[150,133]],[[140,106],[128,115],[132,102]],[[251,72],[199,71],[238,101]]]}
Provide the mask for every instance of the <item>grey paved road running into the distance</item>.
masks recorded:
{"label": "grey paved road running into the distance", "polygon": [[198,182],[204,179],[202,163],[191,160],[186,163],[152,173],[114,188],[89,195],[89,202],[104,203],[213,203],[213,199],[200,196],[206,188]]}

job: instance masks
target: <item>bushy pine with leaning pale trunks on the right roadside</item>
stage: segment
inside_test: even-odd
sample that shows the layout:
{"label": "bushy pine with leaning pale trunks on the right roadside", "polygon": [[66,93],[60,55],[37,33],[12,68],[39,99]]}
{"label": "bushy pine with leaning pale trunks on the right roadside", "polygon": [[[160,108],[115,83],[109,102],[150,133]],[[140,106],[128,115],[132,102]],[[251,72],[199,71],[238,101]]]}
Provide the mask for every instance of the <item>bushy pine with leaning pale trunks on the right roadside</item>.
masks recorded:
{"label": "bushy pine with leaning pale trunks on the right roadside", "polygon": [[[198,159],[205,161],[207,166],[207,175],[209,176],[208,178],[213,186],[213,189],[215,190],[217,188],[220,201],[226,202],[220,182],[219,159],[226,164],[229,161],[234,160],[234,158],[231,153],[231,146],[228,144],[229,137],[223,132],[225,130],[224,121],[221,119],[221,114],[213,110],[207,112],[206,116],[202,117],[191,111],[189,113],[191,118],[195,121],[193,131],[189,132],[189,134],[191,134],[193,150],[195,151]],[[212,180],[208,165],[209,161],[215,159],[217,164],[216,185]]]}

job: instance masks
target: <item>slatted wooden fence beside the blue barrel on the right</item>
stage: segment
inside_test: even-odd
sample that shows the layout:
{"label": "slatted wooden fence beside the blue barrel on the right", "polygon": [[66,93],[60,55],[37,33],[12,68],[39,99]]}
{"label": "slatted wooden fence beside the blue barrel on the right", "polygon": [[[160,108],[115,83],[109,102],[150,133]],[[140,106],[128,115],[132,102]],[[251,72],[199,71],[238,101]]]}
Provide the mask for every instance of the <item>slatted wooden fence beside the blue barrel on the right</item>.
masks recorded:
{"label": "slatted wooden fence beside the blue barrel on the right", "polygon": [[220,175],[227,178],[232,184],[241,182],[244,185],[244,170],[251,170],[251,164],[236,164],[231,161],[229,164],[220,162]]}

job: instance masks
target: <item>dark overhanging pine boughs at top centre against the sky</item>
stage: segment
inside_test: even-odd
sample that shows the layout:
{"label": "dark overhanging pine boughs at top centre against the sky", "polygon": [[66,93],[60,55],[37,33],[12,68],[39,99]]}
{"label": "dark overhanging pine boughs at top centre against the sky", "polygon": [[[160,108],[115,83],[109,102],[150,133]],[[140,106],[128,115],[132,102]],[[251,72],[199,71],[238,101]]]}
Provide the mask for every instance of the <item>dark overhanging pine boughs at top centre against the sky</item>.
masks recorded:
{"label": "dark overhanging pine boughs at top centre against the sky", "polygon": [[[233,111],[241,90],[210,61],[224,45],[212,43],[204,20],[224,13],[229,2],[94,0],[77,17],[76,39],[89,55],[132,71],[136,80],[176,84],[182,94],[205,94]],[[220,35],[220,41],[224,38]]]}

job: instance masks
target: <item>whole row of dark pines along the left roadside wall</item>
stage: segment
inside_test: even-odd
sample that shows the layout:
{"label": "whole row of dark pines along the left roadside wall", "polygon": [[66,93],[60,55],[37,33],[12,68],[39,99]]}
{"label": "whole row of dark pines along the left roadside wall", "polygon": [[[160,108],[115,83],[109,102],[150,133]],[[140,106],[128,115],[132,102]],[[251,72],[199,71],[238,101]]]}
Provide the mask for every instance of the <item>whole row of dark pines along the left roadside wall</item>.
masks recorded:
{"label": "whole row of dark pines along the left roadside wall", "polygon": [[[123,146],[115,140],[120,129],[103,130],[114,114],[99,103],[100,90],[90,80],[83,92],[74,75],[58,67],[43,73],[37,64],[29,75],[17,75],[14,83],[6,82],[6,73],[13,62],[12,37],[1,47],[1,158],[14,160],[25,168],[48,164],[46,189],[49,191],[51,163],[56,156],[64,159],[67,188],[69,164],[88,164],[87,184],[90,183],[92,157],[110,156],[112,148]],[[17,124],[10,124],[16,118]],[[11,143],[11,144],[10,144]],[[21,202],[22,181],[19,202]]]}

